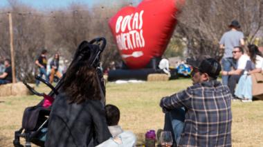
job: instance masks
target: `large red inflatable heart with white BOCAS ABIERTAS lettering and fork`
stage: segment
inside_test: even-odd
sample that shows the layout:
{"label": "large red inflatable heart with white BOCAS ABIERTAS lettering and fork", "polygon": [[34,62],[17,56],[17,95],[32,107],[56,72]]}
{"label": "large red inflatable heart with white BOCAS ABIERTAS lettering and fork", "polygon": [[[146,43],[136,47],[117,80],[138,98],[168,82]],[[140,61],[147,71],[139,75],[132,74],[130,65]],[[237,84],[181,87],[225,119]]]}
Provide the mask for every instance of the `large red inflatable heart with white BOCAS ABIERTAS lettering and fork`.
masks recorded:
{"label": "large red inflatable heart with white BOCAS ABIERTAS lettering and fork", "polygon": [[143,68],[152,58],[163,55],[177,11],[175,0],[144,0],[136,8],[127,6],[111,17],[111,32],[129,68]]}

